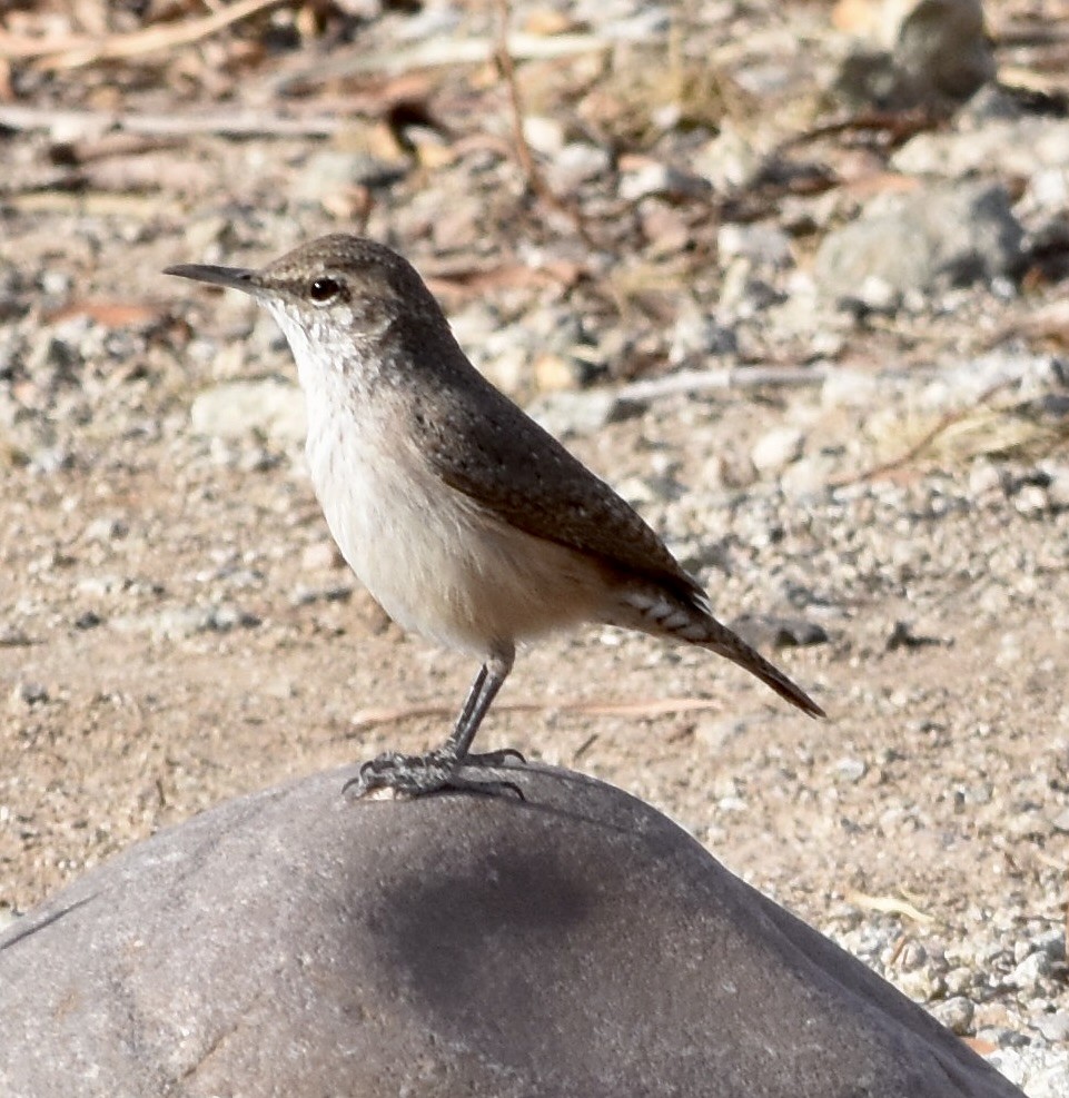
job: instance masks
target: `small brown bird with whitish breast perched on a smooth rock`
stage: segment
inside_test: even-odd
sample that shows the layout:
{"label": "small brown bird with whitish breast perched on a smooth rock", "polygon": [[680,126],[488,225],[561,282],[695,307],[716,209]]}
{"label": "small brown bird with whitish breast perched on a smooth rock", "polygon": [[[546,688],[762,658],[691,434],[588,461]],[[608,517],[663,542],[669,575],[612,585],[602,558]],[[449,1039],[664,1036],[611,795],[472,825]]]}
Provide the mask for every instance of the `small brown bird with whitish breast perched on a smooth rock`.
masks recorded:
{"label": "small brown bird with whitish breast perched on a smooth rock", "polygon": [[712,616],[608,485],[478,373],[396,253],[339,234],[259,270],[166,273],[242,290],[271,314],[297,362],[311,479],[345,560],[402,626],[482,661],[448,740],[365,763],[362,793],[479,787],[461,770],[502,761],[469,748],[516,645],[583,622],[709,649],[824,715]]}

